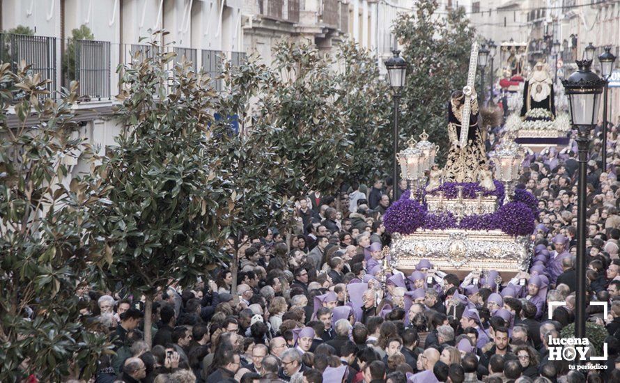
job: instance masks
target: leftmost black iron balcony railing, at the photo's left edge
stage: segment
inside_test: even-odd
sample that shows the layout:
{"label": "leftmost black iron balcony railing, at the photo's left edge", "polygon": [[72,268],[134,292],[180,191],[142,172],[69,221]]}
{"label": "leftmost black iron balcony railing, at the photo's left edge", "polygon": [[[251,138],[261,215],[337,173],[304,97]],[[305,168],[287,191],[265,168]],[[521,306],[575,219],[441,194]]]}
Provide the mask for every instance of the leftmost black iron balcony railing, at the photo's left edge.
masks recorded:
{"label": "leftmost black iron balcony railing, at the photo's left edge", "polygon": [[50,80],[45,85],[50,97],[57,96],[56,38],[0,33],[0,42],[3,63],[10,63],[13,72],[17,71],[22,61],[31,65],[31,72],[40,73],[42,80]]}

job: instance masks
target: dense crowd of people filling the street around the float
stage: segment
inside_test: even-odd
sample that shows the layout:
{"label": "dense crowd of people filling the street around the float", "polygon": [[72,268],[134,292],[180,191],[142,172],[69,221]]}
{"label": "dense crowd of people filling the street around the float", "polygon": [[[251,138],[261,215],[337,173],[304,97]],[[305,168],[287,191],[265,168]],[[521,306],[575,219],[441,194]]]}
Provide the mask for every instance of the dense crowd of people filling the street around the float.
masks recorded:
{"label": "dense crowd of people filling the street around the float", "polygon": [[[214,277],[160,292],[151,346],[143,302],[122,290],[89,292],[88,309],[116,352],[100,360],[96,382],[620,382],[620,146],[611,126],[609,166],[600,169],[600,134],[588,164],[587,299],[607,307],[591,305],[587,315],[605,331],[604,367],[576,370],[578,362],[550,360],[548,350],[575,320],[571,139],[564,150],[529,153],[522,166],[518,187],[540,210],[528,272],[459,279],[428,260],[404,274],[385,269],[391,180],[338,196],[311,192],[297,203],[288,243],[276,228],[231,241],[231,261]],[[555,301],[566,305],[549,313]]]}

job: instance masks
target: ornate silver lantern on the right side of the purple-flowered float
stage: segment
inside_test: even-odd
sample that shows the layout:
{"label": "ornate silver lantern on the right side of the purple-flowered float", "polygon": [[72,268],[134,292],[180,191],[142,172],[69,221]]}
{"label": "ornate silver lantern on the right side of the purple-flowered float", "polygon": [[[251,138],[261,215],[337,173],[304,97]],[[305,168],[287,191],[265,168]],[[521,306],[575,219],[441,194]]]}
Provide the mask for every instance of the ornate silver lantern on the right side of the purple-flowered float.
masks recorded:
{"label": "ornate silver lantern on the right side of the purple-flowered float", "polygon": [[508,203],[514,193],[513,185],[519,178],[521,162],[525,157],[518,144],[513,141],[511,136],[507,136],[502,143],[497,146],[495,153],[489,155],[495,164],[495,179],[504,183],[504,203]]}

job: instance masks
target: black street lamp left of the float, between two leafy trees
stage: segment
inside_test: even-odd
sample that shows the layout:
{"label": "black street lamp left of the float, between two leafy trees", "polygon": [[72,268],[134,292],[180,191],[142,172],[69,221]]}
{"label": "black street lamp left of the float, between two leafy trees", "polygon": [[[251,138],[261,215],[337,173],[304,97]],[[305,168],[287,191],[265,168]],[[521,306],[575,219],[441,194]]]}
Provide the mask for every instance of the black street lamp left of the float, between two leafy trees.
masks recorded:
{"label": "black street lamp left of the float, between two leafy trees", "polygon": [[401,51],[394,49],[392,51],[394,56],[388,58],[385,61],[385,68],[387,69],[387,77],[389,79],[389,86],[392,87],[394,93],[394,188],[392,197],[394,201],[398,200],[398,191],[401,189],[400,182],[398,180],[398,114],[400,113],[399,107],[401,103],[401,90],[405,86],[405,79],[407,77],[407,61],[400,56]]}

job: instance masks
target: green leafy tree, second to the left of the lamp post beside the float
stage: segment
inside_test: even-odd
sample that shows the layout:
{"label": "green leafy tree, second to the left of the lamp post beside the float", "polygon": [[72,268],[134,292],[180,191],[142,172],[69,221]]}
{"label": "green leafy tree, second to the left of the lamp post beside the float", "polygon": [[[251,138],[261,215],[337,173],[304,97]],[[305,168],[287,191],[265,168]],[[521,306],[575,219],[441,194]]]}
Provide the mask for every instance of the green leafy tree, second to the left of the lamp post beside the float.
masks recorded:
{"label": "green leafy tree, second to the left of the lamp post beside the float", "polygon": [[292,196],[336,192],[352,163],[352,132],[336,104],[339,84],[332,64],[304,44],[281,42],[275,49],[276,86],[262,97],[258,114],[279,127],[271,142],[295,168],[287,185]]}

